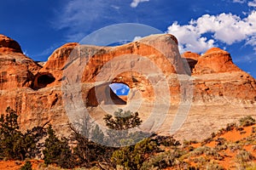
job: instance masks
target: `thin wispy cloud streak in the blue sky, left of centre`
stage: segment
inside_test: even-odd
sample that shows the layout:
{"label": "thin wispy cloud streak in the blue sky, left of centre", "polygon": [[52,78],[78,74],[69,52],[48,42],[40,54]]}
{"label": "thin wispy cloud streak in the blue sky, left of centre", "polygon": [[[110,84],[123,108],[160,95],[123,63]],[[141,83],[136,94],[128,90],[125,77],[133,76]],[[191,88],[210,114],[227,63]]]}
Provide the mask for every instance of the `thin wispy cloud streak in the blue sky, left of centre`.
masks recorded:
{"label": "thin wispy cloud streak in the blue sky, left of centre", "polygon": [[117,11],[117,5],[104,0],[73,0],[63,3],[55,10],[52,26],[56,30],[67,29],[68,42],[80,41],[81,38],[96,26],[98,20],[111,20],[109,11]]}

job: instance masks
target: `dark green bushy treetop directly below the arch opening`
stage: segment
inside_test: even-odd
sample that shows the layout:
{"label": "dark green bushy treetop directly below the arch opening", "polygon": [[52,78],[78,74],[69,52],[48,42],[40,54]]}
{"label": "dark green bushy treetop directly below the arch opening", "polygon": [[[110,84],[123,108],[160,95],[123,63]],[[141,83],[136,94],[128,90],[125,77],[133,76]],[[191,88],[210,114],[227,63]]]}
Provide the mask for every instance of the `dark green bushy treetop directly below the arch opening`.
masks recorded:
{"label": "dark green bushy treetop directly below the arch opening", "polygon": [[106,126],[113,130],[127,130],[132,127],[138,127],[142,124],[142,120],[138,117],[138,113],[132,113],[131,111],[115,111],[114,116],[104,116]]}

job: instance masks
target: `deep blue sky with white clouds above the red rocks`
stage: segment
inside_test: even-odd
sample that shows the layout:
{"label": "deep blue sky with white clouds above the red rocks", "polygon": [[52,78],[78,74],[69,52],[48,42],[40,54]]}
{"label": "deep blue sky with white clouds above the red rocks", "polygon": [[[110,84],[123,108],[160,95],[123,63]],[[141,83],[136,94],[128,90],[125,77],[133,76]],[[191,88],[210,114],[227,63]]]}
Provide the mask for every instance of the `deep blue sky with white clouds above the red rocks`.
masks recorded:
{"label": "deep blue sky with white clouds above the red rocks", "polygon": [[175,35],[182,52],[224,48],[256,77],[256,0],[9,0],[0,16],[0,33],[34,60],[104,26],[139,23]]}

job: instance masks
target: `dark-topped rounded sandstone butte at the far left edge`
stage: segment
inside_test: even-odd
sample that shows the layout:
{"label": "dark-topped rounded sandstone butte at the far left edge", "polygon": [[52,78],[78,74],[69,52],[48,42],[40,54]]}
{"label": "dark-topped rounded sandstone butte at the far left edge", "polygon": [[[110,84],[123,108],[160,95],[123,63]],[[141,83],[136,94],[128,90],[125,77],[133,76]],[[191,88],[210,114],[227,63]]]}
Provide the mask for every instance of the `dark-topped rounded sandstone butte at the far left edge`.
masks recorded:
{"label": "dark-topped rounded sandstone butte at the far left edge", "polygon": [[30,87],[41,67],[21,51],[15,40],[0,35],[0,90]]}

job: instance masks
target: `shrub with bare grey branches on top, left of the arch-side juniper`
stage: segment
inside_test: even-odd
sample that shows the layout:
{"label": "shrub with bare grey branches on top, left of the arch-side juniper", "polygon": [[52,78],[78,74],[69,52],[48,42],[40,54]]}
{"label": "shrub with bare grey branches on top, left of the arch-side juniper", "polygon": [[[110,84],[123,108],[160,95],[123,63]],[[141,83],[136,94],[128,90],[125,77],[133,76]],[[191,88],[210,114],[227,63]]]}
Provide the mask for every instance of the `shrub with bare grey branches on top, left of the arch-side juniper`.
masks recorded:
{"label": "shrub with bare grey branches on top, left of the arch-side juniper", "polygon": [[76,128],[70,128],[73,131],[72,141],[76,144],[73,148],[75,165],[90,168],[100,166],[99,162],[112,164],[110,157],[114,149],[103,145],[106,140],[104,133],[98,125],[90,122],[90,116],[85,116],[81,122],[77,122]]}

